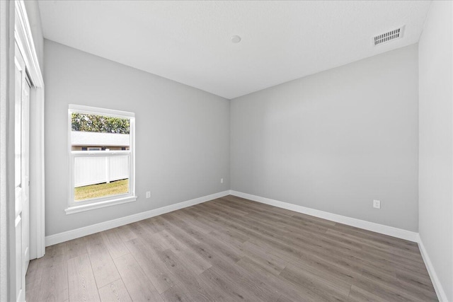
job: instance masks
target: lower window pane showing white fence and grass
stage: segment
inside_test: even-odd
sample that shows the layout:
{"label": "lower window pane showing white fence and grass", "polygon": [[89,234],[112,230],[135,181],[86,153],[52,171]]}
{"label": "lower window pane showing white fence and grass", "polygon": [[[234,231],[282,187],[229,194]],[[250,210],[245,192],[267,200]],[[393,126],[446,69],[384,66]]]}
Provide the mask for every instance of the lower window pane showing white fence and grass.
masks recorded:
{"label": "lower window pane showing white fence and grass", "polygon": [[129,192],[130,155],[74,157],[74,201]]}

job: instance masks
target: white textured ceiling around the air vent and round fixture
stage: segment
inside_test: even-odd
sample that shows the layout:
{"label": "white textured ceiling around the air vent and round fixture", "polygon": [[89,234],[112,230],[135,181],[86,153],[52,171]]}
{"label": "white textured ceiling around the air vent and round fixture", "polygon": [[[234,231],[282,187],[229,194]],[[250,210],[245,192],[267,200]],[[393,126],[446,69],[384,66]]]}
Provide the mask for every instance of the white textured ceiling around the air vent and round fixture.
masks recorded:
{"label": "white textured ceiling around the air vent and round fixture", "polygon": [[[418,42],[430,1],[40,1],[47,39],[236,98]],[[372,37],[406,25],[403,38]],[[242,37],[233,44],[231,35]]]}

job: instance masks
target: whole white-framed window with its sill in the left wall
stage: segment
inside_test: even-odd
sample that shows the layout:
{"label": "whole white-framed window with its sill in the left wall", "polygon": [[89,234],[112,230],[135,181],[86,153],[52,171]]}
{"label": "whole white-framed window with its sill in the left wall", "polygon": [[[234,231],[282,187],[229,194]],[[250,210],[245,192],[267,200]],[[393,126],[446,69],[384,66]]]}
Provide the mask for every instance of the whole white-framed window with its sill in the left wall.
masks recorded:
{"label": "whole white-framed window with its sill in the left wall", "polygon": [[134,113],[69,105],[67,214],[132,202]]}

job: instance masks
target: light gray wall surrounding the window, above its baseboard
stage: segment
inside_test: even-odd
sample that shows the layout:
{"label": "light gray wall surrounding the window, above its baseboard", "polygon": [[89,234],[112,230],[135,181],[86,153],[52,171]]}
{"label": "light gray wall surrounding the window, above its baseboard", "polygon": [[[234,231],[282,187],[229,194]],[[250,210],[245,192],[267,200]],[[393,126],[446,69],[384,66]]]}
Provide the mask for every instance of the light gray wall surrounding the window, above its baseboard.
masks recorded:
{"label": "light gray wall surrounding the window, above its baseboard", "polygon": [[[229,190],[229,100],[49,40],[44,62],[47,236]],[[136,202],[65,214],[71,103],[135,112]]]}

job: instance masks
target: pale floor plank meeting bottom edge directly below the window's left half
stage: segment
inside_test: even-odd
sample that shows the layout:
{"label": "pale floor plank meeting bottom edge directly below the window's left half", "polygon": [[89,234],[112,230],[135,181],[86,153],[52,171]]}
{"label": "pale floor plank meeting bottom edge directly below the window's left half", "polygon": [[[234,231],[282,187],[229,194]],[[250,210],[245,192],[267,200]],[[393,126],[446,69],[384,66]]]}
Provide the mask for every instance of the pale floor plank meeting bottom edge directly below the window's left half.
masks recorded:
{"label": "pale floor plank meeting bottom edge directly below the window's left half", "polygon": [[87,254],[68,260],[69,301],[101,301]]}

